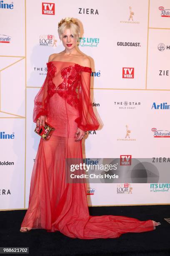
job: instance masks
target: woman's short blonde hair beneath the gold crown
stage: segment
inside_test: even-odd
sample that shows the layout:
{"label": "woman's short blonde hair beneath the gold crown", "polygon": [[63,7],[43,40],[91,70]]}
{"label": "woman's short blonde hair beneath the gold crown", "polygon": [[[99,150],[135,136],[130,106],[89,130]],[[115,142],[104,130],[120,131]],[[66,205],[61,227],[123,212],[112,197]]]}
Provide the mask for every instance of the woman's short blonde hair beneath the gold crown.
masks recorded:
{"label": "woman's short blonde hair beneath the gold crown", "polygon": [[73,36],[76,37],[76,39],[80,36],[80,28],[75,23],[62,23],[62,25],[58,28],[58,35],[60,39],[62,39],[62,34],[64,33],[65,29],[70,29]]}

